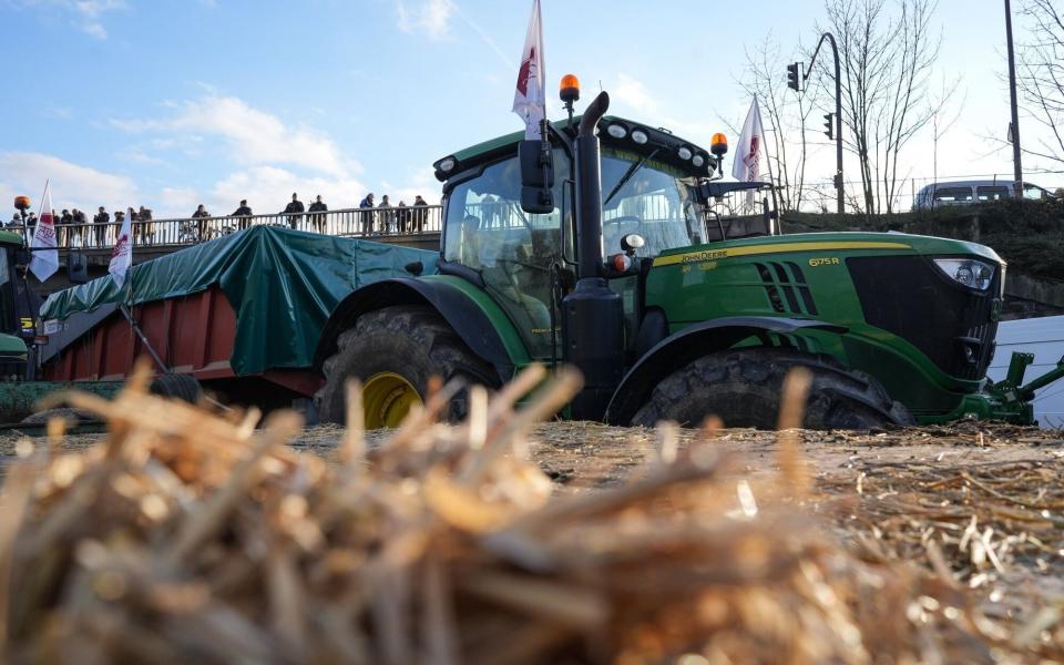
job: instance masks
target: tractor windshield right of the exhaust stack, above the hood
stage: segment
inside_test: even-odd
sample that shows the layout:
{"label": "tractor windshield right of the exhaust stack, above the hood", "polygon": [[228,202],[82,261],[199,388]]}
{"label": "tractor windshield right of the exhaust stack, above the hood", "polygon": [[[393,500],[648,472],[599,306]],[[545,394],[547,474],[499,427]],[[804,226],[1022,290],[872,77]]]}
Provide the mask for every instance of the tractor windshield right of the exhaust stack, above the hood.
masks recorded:
{"label": "tractor windshield right of the exhaust stack, above the hood", "polygon": [[636,153],[602,151],[605,254],[621,252],[621,238],[637,233],[646,239],[637,254],[657,256],[665,249],[704,243],[706,231],[696,178]]}

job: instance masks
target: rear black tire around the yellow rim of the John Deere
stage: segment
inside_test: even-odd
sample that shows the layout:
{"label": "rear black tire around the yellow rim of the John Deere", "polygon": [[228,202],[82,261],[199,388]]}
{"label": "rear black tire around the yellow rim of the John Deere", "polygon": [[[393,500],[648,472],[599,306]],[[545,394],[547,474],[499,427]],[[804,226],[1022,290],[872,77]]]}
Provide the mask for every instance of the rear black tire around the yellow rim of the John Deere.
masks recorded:
{"label": "rear black tire around the yellow rim of the John Deere", "polygon": [[[323,422],[346,420],[345,385],[357,377],[364,383],[381,372],[392,372],[409,381],[424,401],[429,379],[444,382],[461,379],[467,386],[494,389],[499,379],[494,368],[462,341],[454,330],[427,306],[386,307],[358,317],[354,328],[337,338],[337,352],[323,366],[325,386],[315,399]],[[460,420],[468,411],[467,390],[451,401],[450,420]]]}

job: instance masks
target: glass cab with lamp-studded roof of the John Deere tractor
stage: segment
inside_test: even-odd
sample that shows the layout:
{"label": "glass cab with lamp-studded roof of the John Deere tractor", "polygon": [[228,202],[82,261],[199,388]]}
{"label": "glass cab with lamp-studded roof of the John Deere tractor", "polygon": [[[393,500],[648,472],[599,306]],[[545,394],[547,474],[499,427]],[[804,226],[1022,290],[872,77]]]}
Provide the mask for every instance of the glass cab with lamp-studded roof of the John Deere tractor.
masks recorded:
{"label": "glass cab with lamp-studded roof of the John Deere tractor", "polygon": [[[573,123],[552,125],[553,183],[549,212],[522,203],[521,134],[461,151],[436,164],[444,182],[440,272],[484,288],[514,323],[530,356],[559,357],[557,308],[577,265],[576,171]],[[653,258],[667,249],[720,238],[729,229],[755,233],[745,217],[717,212],[726,192],[714,188],[717,161],[671,132],[606,116],[602,143],[602,238],[598,256]],[[744,185],[744,183],[734,183]],[[758,187],[761,185],[757,183]],[[756,187],[757,188],[757,187]],[[753,190],[751,190],[753,191]],[[736,208],[738,209],[738,208]],[[761,224],[761,227],[765,225]],[[640,237],[637,247],[623,243]],[[634,327],[635,273],[611,276]],[[552,313],[553,310],[553,313]]]}

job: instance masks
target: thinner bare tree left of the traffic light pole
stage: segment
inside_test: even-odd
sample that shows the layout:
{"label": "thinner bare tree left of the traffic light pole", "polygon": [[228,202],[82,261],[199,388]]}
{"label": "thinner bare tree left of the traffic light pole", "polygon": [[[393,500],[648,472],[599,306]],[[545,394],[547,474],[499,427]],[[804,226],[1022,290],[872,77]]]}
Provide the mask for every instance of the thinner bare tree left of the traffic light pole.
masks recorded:
{"label": "thinner bare tree left of the traffic light pole", "polygon": [[779,207],[786,212],[801,207],[806,194],[809,145],[805,121],[814,106],[806,94],[788,90],[780,75],[785,65],[779,45],[768,34],[753,51],[746,51],[743,75],[736,82],[757,99],[761,109],[765,133],[771,135],[765,155],[779,193]]}

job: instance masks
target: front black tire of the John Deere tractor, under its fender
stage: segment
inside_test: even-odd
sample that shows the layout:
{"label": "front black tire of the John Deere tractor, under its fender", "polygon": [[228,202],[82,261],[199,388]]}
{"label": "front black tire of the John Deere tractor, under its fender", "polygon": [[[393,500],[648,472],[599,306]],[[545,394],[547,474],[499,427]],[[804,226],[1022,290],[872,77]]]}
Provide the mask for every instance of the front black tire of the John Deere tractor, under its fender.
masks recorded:
{"label": "front black tire of the John Deere tractor, under its fender", "polygon": [[636,411],[632,424],[652,427],[672,420],[697,427],[708,416],[728,427],[775,429],[784,377],[795,367],[812,374],[804,427],[808,429],[889,429],[913,423],[901,402],[882,385],[847,370],[830,356],[789,349],[735,349],[694,360],[666,377]]}

